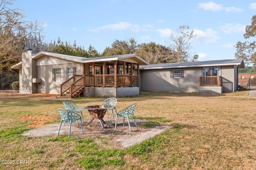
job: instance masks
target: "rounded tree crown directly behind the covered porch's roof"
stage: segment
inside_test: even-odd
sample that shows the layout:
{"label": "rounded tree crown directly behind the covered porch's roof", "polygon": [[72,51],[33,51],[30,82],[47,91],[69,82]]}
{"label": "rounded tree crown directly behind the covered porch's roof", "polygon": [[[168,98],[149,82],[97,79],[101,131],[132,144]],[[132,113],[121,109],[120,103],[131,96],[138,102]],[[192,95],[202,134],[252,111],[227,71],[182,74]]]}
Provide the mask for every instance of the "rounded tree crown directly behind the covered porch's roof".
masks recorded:
{"label": "rounded tree crown directly behind the covered porch's roof", "polygon": [[118,40],[116,39],[111,47],[106,47],[103,50],[103,56],[111,56],[111,55],[122,55],[122,54],[133,54],[137,50],[137,42],[134,38],[130,38],[129,40]]}

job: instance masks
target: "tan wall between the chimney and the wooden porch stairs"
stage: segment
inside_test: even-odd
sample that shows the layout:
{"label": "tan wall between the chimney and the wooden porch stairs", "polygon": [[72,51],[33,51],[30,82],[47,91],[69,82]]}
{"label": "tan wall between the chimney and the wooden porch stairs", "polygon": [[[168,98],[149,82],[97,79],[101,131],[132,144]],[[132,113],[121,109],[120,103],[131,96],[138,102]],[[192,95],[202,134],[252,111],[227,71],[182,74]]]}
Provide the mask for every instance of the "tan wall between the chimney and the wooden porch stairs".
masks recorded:
{"label": "tan wall between the chimney and the wooden porch stairs", "polygon": [[[76,67],[76,74],[83,74],[83,64],[57,64],[57,65],[42,65],[37,66],[37,78],[42,79],[42,89],[37,91],[46,94],[60,94],[60,84],[67,80],[67,67]],[[52,80],[52,69],[61,69],[61,81],[54,82]]]}

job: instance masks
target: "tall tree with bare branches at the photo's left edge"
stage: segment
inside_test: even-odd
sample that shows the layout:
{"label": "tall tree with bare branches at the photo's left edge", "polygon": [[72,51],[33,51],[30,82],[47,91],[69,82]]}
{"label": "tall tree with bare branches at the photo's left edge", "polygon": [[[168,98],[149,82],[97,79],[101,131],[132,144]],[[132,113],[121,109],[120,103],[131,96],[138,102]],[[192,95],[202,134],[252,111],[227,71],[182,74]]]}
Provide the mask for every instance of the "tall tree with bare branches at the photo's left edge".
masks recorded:
{"label": "tall tree with bare branches at the photo's left edge", "polygon": [[18,80],[18,71],[10,67],[20,61],[29,37],[42,31],[38,22],[24,21],[25,14],[12,8],[13,3],[0,0],[0,89],[10,88],[10,83]]}

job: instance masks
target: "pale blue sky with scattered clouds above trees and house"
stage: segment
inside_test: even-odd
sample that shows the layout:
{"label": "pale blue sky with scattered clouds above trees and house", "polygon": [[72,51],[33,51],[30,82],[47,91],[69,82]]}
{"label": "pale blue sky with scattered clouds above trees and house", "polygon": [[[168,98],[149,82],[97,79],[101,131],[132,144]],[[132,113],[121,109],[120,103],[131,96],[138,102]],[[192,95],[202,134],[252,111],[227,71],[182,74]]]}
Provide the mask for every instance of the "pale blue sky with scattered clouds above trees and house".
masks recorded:
{"label": "pale blue sky with scattered clouds above trees and house", "polygon": [[194,30],[190,53],[199,61],[235,58],[237,41],[256,13],[256,1],[17,0],[25,20],[43,24],[44,40],[61,40],[99,52],[115,39],[169,45],[180,25]]}

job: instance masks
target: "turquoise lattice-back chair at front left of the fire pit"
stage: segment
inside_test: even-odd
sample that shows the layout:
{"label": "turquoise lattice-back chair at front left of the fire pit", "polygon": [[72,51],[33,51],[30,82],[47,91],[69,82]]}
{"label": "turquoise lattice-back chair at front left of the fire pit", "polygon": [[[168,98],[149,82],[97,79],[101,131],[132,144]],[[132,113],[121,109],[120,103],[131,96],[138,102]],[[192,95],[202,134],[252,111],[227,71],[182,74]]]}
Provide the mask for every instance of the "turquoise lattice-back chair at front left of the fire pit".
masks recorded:
{"label": "turquoise lattice-back chair at front left of the fire pit", "polygon": [[[58,111],[60,112],[60,116],[61,116],[60,128],[61,128],[62,122],[68,122],[69,123],[68,137],[70,137],[72,122],[75,122],[75,121],[78,121],[78,120],[80,120],[80,122],[81,122],[82,134],[84,133],[84,131],[83,131],[83,121],[82,121],[82,117],[80,115],[76,114],[73,111],[62,109],[62,108],[58,108]],[[59,128],[57,136],[60,133],[60,128]]]}

